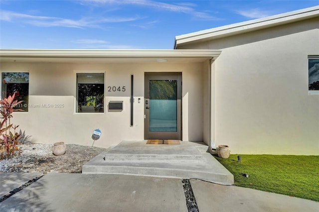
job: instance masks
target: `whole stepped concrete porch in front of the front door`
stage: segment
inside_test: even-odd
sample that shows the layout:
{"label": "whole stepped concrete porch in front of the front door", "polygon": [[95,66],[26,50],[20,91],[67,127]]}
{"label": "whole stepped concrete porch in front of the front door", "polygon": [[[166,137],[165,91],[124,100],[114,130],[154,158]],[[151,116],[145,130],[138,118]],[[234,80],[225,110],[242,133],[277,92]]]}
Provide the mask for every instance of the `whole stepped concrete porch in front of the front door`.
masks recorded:
{"label": "whole stepped concrete porch in front of the front door", "polygon": [[203,142],[156,145],[146,141],[122,141],[86,163],[82,173],[194,178],[232,185],[233,175],[206,152],[207,149]]}

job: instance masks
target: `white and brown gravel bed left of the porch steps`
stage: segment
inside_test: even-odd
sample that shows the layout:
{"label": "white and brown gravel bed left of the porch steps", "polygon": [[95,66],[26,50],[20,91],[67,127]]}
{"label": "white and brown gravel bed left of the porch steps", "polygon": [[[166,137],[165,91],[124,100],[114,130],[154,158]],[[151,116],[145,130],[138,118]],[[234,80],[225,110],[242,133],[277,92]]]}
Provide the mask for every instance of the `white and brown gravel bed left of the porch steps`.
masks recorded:
{"label": "white and brown gravel bed left of the porch steps", "polygon": [[0,172],[81,173],[82,166],[105,148],[66,144],[64,155],[52,153],[53,144],[28,143],[18,145],[20,155],[0,160]]}

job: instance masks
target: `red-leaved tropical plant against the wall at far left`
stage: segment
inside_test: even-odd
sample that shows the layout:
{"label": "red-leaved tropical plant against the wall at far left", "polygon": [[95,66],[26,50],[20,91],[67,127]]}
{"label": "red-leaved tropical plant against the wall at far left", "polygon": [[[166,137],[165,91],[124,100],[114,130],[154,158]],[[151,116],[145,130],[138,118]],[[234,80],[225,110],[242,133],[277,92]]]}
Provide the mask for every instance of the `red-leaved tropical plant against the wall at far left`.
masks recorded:
{"label": "red-leaved tropical plant against the wall at far left", "polygon": [[16,151],[20,154],[17,146],[20,133],[16,132],[18,126],[11,124],[10,118],[13,111],[23,111],[13,108],[23,101],[14,100],[14,96],[15,94],[0,101],[0,159],[10,158]]}

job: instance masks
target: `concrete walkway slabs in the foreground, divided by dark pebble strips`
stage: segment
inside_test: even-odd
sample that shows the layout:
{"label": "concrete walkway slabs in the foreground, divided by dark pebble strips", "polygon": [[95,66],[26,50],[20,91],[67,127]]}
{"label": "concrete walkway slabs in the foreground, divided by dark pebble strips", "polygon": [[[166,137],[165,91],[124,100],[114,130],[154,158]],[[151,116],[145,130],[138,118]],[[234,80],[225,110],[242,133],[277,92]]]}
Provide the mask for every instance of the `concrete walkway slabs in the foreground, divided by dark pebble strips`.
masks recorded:
{"label": "concrete walkway slabs in the foreground, divided by dark pebble strips", "polygon": [[[0,173],[1,194],[9,188],[8,179],[13,188],[38,174]],[[319,203],[309,200],[200,180],[190,184],[199,212],[319,211]],[[187,208],[178,178],[50,173],[1,202],[0,211],[187,212]]]}

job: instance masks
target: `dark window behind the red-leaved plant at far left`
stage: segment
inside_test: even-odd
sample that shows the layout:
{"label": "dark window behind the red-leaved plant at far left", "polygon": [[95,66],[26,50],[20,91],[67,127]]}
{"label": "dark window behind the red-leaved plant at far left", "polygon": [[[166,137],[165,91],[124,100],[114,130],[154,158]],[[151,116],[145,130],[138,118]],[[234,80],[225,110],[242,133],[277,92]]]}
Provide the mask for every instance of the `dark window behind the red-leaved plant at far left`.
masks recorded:
{"label": "dark window behind the red-leaved plant at far left", "polygon": [[21,104],[15,106],[15,109],[22,109],[24,112],[28,111],[29,103],[29,73],[21,72],[7,72],[1,74],[2,80],[2,94],[1,96],[7,98],[9,95],[15,94],[15,100],[23,101]]}

